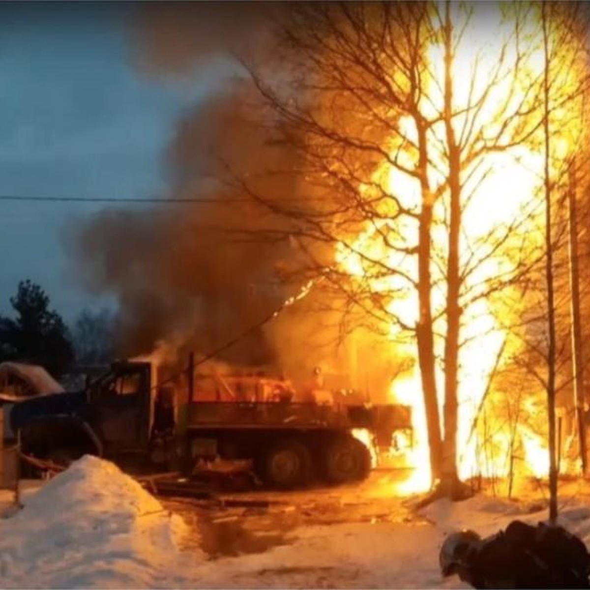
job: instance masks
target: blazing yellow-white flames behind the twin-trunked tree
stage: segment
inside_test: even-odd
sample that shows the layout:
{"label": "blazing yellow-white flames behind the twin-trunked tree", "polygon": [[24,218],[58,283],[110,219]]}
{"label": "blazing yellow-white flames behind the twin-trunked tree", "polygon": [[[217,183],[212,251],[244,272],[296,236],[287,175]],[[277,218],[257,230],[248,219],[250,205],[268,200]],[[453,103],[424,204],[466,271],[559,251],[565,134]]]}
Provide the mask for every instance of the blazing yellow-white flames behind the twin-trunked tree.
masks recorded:
{"label": "blazing yellow-white flames behind the twin-trunked tree", "polygon": [[[493,5],[486,4],[486,19],[493,12]],[[478,5],[476,5],[477,9]],[[497,8],[497,7],[496,7]],[[517,46],[514,43],[513,25],[502,20],[499,10],[496,25],[474,19],[467,24],[461,40],[458,42],[454,58],[454,126],[457,133],[464,126],[473,125],[472,133],[480,132],[492,137],[503,123],[501,117],[512,112],[520,101],[526,101],[526,94],[532,80],[540,80],[544,60],[542,45],[539,41],[540,29],[530,24],[528,31],[529,48],[523,63],[520,63],[520,77],[514,77],[510,68],[514,64]],[[455,14],[457,29],[463,26],[462,17]],[[471,27],[471,28],[470,28]],[[518,48],[521,50],[522,48]],[[511,55],[512,52],[512,55]],[[503,57],[501,57],[501,55]],[[512,58],[511,58],[512,57]],[[504,61],[502,61],[504,60]],[[421,104],[422,115],[434,120],[443,110],[442,89],[444,88],[444,54],[439,44],[432,44],[429,61],[433,79],[425,93],[427,98]],[[499,65],[500,64],[500,65]],[[560,86],[564,89],[574,83],[571,70],[564,70],[559,76]],[[490,87],[493,82],[493,87]],[[487,98],[481,108],[474,114],[470,109],[473,97]],[[562,159],[573,145],[575,133],[569,129],[565,113],[556,112],[555,123],[559,125],[560,136],[555,145],[558,152],[553,155],[555,172],[556,160]],[[533,122],[531,122],[533,124]],[[417,145],[415,120],[410,116],[399,120],[399,135],[408,140],[410,145]],[[434,188],[447,182],[445,170],[448,168],[444,151],[445,129],[442,121],[432,124],[428,135],[431,164],[428,175]],[[574,138],[574,139],[572,139]],[[394,142],[395,144],[395,142]],[[393,149],[397,149],[395,158],[405,169],[415,169],[416,155],[411,150],[399,150],[399,140]],[[465,171],[463,195],[465,208],[463,212],[463,236],[461,238],[461,263],[467,267],[473,260],[473,270],[464,278],[464,293],[483,293],[490,281],[497,280],[502,274],[510,276],[513,261],[510,248],[532,248],[535,240],[542,236],[542,217],[540,217],[539,195],[543,179],[542,145],[535,147],[533,142],[518,145],[496,153],[481,155]],[[373,181],[379,183],[388,194],[395,195],[405,208],[418,212],[421,205],[421,187],[418,180],[406,172],[402,166],[396,168],[389,163],[383,164],[375,173]],[[362,188],[370,193],[370,188]],[[391,213],[391,212],[390,212]],[[445,219],[445,196],[435,205],[435,227],[433,231],[434,255],[444,261],[447,248],[447,228]],[[383,215],[378,222],[366,224],[365,230],[356,237],[343,240],[336,253],[339,267],[350,276],[369,284],[371,291],[389,295],[388,311],[392,317],[401,319],[408,326],[418,320],[417,292],[407,278],[417,278],[417,260],[408,255],[407,250],[418,243],[418,225],[415,217],[396,217]],[[520,222],[517,231],[510,235],[510,225],[515,219]],[[387,242],[383,235],[387,235]],[[523,236],[529,236],[529,241]],[[504,236],[507,236],[505,238]],[[516,246],[514,239],[518,239]],[[503,241],[503,246],[497,244]],[[538,243],[538,242],[537,242]],[[396,248],[399,246],[399,249]],[[379,260],[395,273],[383,276],[371,271],[371,260]],[[369,261],[369,262],[368,262]],[[402,272],[399,272],[402,271]],[[434,289],[432,306],[437,313],[444,310],[446,291],[444,286],[444,267],[432,264]],[[377,276],[378,274],[378,276]],[[510,432],[506,428],[493,428],[489,435],[489,450],[481,448],[478,429],[476,428],[484,396],[493,378],[494,368],[502,363],[502,356],[509,349],[510,354],[518,352],[519,343],[510,339],[500,321],[506,320],[507,313],[519,313],[518,309],[508,310],[501,301],[492,297],[476,297],[474,303],[464,308],[461,337],[465,343],[460,350],[460,375],[458,388],[458,473],[461,478],[481,474],[486,477],[506,476],[509,472],[509,457],[514,441],[517,439],[522,449],[522,460],[530,475],[543,477],[548,473],[549,457],[545,441],[540,435],[525,425],[517,423]],[[435,332],[445,333],[444,314],[436,320]],[[389,332],[392,339],[392,353],[401,357],[414,358],[417,355],[415,342],[408,333],[398,328],[398,323],[391,322]],[[438,359],[442,358],[444,338],[438,337],[435,348]],[[444,373],[440,365],[437,368],[438,395],[444,392]],[[539,392],[540,395],[540,392]],[[402,378],[391,384],[391,396],[397,402],[411,405],[415,431],[415,446],[411,463],[415,467],[414,475],[401,486],[402,492],[427,490],[431,486],[430,457],[426,431],[425,409],[422,398],[421,379],[417,363]],[[442,399],[439,399],[442,408]],[[530,412],[529,408],[529,412]],[[526,411],[526,408],[525,408]],[[542,415],[542,414],[541,414]],[[489,418],[491,421],[494,417]],[[542,417],[539,419],[542,420]],[[444,425],[442,425],[444,427]],[[490,432],[491,432],[490,431]]]}

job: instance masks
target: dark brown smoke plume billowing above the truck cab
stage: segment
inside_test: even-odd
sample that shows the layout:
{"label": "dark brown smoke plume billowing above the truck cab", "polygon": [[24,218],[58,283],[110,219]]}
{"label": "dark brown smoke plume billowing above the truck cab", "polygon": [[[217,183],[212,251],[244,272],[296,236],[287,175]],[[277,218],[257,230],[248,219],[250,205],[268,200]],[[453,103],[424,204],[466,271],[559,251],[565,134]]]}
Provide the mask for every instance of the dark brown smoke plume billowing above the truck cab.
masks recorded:
{"label": "dark brown smoke plume billowing above the truck cab", "polygon": [[[276,269],[290,255],[289,241],[286,234],[260,235],[281,222],[231,183],[249,175],[260,194],[294,198],[297,191],[295,179],[263,173],[288,171],[294,155],[271,145],[270,127],[251,119],[260,108],[253,93],[236,83],[231,93],[213,97],[178,123],[166,154],[171,194],[203,202],[117,208],[71,225],[71,250],[86,286],[119,300],[123,355],[147,353],[179,332],[206,352],[283,300]],[[224,176],[225,162],[232,168]],[[228,352],[245,363],[272,360],[261,330]]]}

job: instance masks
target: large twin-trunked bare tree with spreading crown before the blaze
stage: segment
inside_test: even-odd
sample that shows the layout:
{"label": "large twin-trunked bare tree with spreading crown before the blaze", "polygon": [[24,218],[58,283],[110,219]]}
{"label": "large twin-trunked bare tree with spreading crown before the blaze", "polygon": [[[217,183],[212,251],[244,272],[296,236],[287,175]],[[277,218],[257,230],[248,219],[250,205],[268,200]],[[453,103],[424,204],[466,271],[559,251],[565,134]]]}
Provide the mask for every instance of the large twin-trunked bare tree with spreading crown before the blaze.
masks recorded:
{"label": "large twin-trunked bare tree with spreading crown before the blaze", "polygon": [[[532,185],[522,207],[481,231],[469,214],[493,209],[480,208],[501,167],[496,158],[519,165],[523,149],[539,151],[543,129],[536,7],[503,10],[452,2],[289,6],[274,23],[270,55],[242,55],[242,64],[261,97],[250,116],[266,134],[265,149],[288,146],[293,157],[252,168],[221,153],[217,162],[224,181],[265,214],[264,230],[243,228],[244,239],[289,238],[297,251],[283,278],[312,281],[314,301],[339,314],[342,333],[362,325],[396,352],[415,347],[432,476],[451,495],[460,366],[473,342],[495,329],[493,322],[474,329],[474,319],[482,304],[490,315],[486,306],[506,286],[517,299],[542,259],[529,231],[540,202]],[[490,15],[501,35],[489,34]],[[494,260],[503,263],[490,273]]]}

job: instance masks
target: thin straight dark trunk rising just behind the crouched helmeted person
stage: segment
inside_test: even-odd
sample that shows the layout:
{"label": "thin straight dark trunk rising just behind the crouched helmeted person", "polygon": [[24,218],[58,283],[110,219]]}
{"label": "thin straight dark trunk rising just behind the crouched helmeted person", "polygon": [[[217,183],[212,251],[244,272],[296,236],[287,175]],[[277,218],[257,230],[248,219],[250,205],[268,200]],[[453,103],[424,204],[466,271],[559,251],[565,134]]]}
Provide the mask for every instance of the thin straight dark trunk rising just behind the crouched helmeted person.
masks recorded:
{"label": "thin straight dark trunk rising just behind the crouched helmeted person", "polygon": [[543,135],[545,136],[545,270],[547,282],[547,322],[549,345],[547,355],[547,414],[549,419],[549,520],[557,520],[557,464],[555,453],[555,294],[553,284],[553,243],[551,239],[551,178],[549,169],[550,135],[549,135],[549,32],[547,4],[541,4],[543,24],[543,51],[545,72],[543,77]]}

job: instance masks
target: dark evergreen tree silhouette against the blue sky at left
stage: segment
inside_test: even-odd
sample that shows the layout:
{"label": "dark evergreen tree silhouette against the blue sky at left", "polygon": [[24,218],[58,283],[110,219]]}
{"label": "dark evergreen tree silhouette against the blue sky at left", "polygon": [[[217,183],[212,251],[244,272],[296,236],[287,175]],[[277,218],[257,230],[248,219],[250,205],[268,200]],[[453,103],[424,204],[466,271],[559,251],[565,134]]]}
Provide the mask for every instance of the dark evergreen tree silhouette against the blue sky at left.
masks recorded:
{"label": "dark evergreen tree silhouette against the blue sky at left", "polygon": [[63,375],[73,361],[73,348],[45,291],[28,279],[20,281],[10,303],[17,317],[0,316],[0,359],[35,363],[55,377]]}

